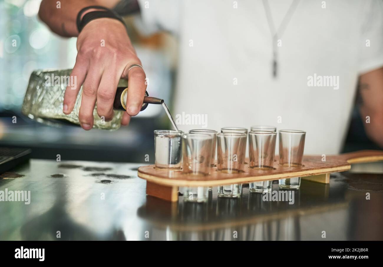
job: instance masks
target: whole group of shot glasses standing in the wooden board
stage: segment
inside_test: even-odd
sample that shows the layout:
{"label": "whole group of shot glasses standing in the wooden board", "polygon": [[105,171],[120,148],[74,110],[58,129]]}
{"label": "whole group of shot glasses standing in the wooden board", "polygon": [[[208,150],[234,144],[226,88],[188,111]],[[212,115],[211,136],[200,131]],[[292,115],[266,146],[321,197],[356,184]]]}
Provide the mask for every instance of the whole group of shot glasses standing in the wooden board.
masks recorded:
{"label": "whole group of shot glasses standing in the wooden board", "polygon": [[[223,127],[216,130],[155,130],[155,168],[182,169],[191,175],[209,175],[212,167],[222,173],[241,173],[244,165],[262,171],[274,169],[276,127],[252,126],[250,132],[241,127]],[[301,167],[306,132],[279,130],[279,164]],[[245,163],[247,136],[249,136],[249,163]],[[217,164],[215,158],[217,153]],[[182,168],[181,168],[182,167]],[[298,189],[300,177],[280,179],[279,187]],[[250,182],[249,190],[255,193],[270,192],[272,181]],[[185,201],[206,202],[212,187],[184,187]],[[240,197],[242,184],[218,186],[219,197]]]}

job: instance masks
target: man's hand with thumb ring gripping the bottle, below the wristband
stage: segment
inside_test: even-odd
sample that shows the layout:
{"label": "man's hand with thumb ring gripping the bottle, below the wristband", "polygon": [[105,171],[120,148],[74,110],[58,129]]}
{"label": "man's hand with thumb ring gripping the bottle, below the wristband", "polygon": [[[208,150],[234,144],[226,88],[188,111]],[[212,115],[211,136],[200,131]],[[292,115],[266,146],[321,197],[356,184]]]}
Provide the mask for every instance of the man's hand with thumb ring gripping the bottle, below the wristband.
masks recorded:
{"label": "man's hand with thumb ring gripping the bottle, below the wristband", "polygon": [[[105,46],[101,46],[102,40]],[[77,76],[76,88],[68,86],[64,96],[63,112],[69,114],[74,107],[81,85],[82,101],[79,112],[81,127],[93,127],[93,109],[97,101],[97,113],[105,120],[113,118],[113,101],[120,78],[128,78],[128,98],[126,114],[122,124],[127,125],[130,116],[141,110],[145,96],[145,73],[129,40],[124,25],[111,18],[90,21],[82,29],[77,39],[77,58],[71,76]]]}

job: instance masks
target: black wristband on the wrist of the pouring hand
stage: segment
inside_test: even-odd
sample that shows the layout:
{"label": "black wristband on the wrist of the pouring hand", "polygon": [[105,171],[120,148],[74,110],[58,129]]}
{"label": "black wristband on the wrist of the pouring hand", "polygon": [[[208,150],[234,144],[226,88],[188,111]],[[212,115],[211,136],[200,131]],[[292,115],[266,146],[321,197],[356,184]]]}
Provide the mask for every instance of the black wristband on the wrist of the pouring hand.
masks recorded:
{"label": "black wristband on the wrist of the pouring hand", "polygon": [[[91,9],[91,8],[97,8],[97,9],[102,9],[102,10],[88,12],[81,19],[82,13],[84,13],[86,10]],[[119,20],[119,21],[121,21],[121,23],[126,28],[124,20],[117,13],[109,10],[106,7],[90,6],[90,7],[85,7],[82,10],[80,10],[79,14],[77,15],[76,23],[77,23],[77,30],[79,31],[79,33],[82,31],[82,29],[84,28],[84,26],[86,24],[88,24],[90,21],[98,19],[98,18],[113,18],[115,20]]]}

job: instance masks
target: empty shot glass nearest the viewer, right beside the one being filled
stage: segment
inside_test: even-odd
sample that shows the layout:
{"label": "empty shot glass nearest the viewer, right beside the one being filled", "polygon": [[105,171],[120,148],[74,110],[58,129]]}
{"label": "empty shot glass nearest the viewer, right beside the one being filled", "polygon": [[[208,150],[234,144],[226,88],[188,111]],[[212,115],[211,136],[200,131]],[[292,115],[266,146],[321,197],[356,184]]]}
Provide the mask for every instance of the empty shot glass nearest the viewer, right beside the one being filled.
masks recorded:
{"label": "empty shot glass nearest the viewer, right beside the one being filled", "polygon": [[[208,175],[210,172],[213,139],[209,134],[188,133],[182,135],[182,172],[193,175]],[[206,202],[209,187],[184,187],[185,201]]]}

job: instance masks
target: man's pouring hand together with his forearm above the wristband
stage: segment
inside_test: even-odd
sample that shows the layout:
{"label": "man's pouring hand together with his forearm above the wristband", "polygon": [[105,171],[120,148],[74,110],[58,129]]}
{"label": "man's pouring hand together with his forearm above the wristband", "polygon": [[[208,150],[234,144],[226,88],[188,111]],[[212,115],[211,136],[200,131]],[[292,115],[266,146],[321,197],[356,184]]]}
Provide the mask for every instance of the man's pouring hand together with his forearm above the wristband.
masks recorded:
{"label": "man's pouring hand together with his forearm above the wristband", "polygon": [[[77,85],[66,88],[63,112],[69,114],[73,110],[83,85],[79,119],[85,130],[93,127],[96,101],[98,115],[104,116],[106,121],[113,118],[113,101],[120,78],[128,79],[129,86],[123,125],[129,124],[130,116],[138,114],[144,99],[144,71],[132,68],[128,73],[129,66],[141,65],[141,61],[124,25],[112,18],[99,18],[86,24],[80,34],[77,31],[76,18],[82,8],[94,5],[112,8],[117,3],[118,0],[67,0],[61,8],[57,8],[56,0],[43,0],[40,5],[39,17],[52,31],[61,36],[78,36],[77,58],[71,73],[71,76],[77,76]],[[93,10],[83,15],[90,11]],[[102,40],[105,46],[101,46]]]}

